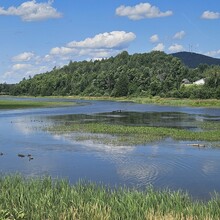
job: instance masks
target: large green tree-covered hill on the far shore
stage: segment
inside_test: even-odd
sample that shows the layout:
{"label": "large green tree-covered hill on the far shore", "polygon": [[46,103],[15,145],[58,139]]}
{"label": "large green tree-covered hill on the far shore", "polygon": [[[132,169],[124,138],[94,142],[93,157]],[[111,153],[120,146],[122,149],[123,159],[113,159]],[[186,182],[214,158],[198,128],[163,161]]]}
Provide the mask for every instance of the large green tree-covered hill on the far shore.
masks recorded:
{"label": "large green tree-covered hill on the far shore", "polygon": [[[180,59],[159,51],[133,55],[124,51],[108,59],[70,62],[51,72],[23,79],[13,87],[11,94],[189,97],[192,94],[181,87],[182,80],[200,79],[207,68],[189,69]],[[220,81],[215,80],[212,88],[198,93],[199,96],[218,97],[218,84]]]}

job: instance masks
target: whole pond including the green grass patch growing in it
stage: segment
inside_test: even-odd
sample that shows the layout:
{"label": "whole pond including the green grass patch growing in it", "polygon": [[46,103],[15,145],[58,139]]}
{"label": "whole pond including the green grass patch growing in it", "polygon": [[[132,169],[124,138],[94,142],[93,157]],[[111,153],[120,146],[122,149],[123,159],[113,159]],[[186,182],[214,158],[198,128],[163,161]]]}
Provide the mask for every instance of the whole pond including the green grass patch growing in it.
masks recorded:
{"label": "whole pond including the green grass patch growing in it", "polygon": [[180,189],[201,200],[220,192],[218,108],[46,101],[74,105],[0,110],[2,175]]}

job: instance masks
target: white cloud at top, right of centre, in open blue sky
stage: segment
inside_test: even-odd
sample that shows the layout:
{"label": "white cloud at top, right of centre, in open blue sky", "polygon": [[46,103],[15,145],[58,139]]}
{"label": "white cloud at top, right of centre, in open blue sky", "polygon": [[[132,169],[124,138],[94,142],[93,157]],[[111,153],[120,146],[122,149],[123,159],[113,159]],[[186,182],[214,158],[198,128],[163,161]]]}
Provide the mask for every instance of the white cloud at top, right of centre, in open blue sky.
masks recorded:
{"label": "white cloud at top, right of centre, in open blue sky", "polygon": [[144,18],[158,18],[171,16],[172,11],[161,12],[156,6],[149,3],[140,3],[135,6],[121,5],[116,9],[116,15],[127,16],[131,20],[140,20]]}

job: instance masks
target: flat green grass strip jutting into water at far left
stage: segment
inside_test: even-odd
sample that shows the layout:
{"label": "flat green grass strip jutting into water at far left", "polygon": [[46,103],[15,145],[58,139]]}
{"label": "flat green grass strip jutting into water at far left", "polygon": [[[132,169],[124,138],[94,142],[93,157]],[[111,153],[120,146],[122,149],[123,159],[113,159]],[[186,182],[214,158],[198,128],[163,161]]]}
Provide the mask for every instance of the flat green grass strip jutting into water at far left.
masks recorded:
{"label": "flat green grass strip jutting into water at far left", "polygon": [[73,102],[0,100],[0,109],[49,108],[74,105]]}

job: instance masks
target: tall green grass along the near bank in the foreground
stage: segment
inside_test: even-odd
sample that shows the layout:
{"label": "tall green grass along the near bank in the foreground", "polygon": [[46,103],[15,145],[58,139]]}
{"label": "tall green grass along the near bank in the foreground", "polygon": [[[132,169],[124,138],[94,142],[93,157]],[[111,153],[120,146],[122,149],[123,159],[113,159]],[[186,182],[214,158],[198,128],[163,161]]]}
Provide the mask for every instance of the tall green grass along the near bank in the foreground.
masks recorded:
{"label": "tall green grass along the near bank in the foreground", "polygon": [[0,177],[0,219],[219,219],[220,197],[192,201],[180,191],[109,189],[51,178]]}

